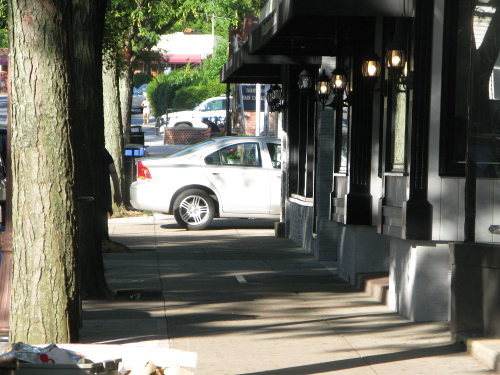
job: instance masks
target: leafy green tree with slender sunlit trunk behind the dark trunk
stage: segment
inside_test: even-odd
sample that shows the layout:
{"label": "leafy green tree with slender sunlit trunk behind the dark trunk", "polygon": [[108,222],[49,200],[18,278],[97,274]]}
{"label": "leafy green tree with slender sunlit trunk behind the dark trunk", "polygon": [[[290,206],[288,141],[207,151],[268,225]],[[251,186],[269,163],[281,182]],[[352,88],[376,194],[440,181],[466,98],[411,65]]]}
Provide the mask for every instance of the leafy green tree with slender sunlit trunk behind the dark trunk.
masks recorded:
{"label": "leafy green tree with slender sunlit trunk behind the dark trunk", "polygon": [[105,111],[106,134],[112,137],[106,136],[106,147],[115,159],[122,189],[128,187],[124,186],[123,142],[119,135],[123,135],[126,143],[130,141],[133,74],[137,63],[161,61],[161,54],[152,51],[161,35],[200,26],[203,32],[213,31],[227,39],[229,25],[239,25],[244,16],[255,13],[256,9],[259,9],[258,0],[110,1],[106,14],[103,74],[111,75],[108,82],[116,82],[118,73],[119,104],[116,103],[117,89],[108,84],[104,87],[104,101],[115,102],[105,103],[105,106],[111,109],[118,104],[121,111],[119,114]]}

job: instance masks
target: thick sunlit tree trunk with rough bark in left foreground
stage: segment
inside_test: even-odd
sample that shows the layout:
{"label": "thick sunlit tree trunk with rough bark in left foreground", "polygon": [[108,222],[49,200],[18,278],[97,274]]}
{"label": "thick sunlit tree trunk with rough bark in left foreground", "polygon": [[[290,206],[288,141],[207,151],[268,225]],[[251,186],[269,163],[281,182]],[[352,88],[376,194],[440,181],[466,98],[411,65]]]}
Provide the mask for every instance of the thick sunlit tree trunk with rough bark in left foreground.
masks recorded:
{"label": "thick sunlit tree trunk with rough bark in left foreground", "polygon": [[9,0],[12,342],[78,337],[71,18],[69,0]]}

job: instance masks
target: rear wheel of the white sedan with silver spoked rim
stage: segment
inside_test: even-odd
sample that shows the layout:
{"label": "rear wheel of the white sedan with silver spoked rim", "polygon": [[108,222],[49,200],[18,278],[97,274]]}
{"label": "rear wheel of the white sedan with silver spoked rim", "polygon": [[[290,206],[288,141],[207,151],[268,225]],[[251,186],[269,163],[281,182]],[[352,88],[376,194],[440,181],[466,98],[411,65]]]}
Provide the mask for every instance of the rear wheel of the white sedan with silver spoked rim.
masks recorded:
{"label": "rear wheel of the white sedan with silver spoked rim", "polygon": [[205,229],[212,222],[214,214],[214,201],[203,190],[186,190],[174,201],[175,221],[187,230]]}

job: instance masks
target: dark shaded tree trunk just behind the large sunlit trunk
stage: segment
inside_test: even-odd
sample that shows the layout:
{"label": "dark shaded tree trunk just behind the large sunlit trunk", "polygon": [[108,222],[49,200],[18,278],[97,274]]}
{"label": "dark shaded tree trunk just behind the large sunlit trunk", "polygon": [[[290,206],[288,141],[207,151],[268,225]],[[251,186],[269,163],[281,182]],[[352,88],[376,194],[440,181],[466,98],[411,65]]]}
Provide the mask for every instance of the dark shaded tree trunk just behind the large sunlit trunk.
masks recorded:
{"label": "dark shaded tree trunk just behind the large sunlit trunk", "polygon": [[[73,1],[73,128],[78,213],[78,265],[83,298],[111,297],[101,251],[102,37],[106,1]],[[90,199],[85,199],[85,198]],[[91,200],[93,198],[93,200]]]}

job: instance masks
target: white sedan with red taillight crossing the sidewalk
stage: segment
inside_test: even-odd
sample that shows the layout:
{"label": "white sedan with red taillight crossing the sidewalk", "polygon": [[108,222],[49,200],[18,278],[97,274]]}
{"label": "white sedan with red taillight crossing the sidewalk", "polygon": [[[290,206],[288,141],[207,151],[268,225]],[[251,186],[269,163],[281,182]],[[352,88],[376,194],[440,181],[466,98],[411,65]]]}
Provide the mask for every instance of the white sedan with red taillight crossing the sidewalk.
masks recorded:
{"label": "white sedan with red taillight crossing the sidewalk", "polygon": [[221,137],[140,159],[130,202],[138,210],[173,214],[188,230],[204,229],[214,217],[279,220],[281,142]]}

